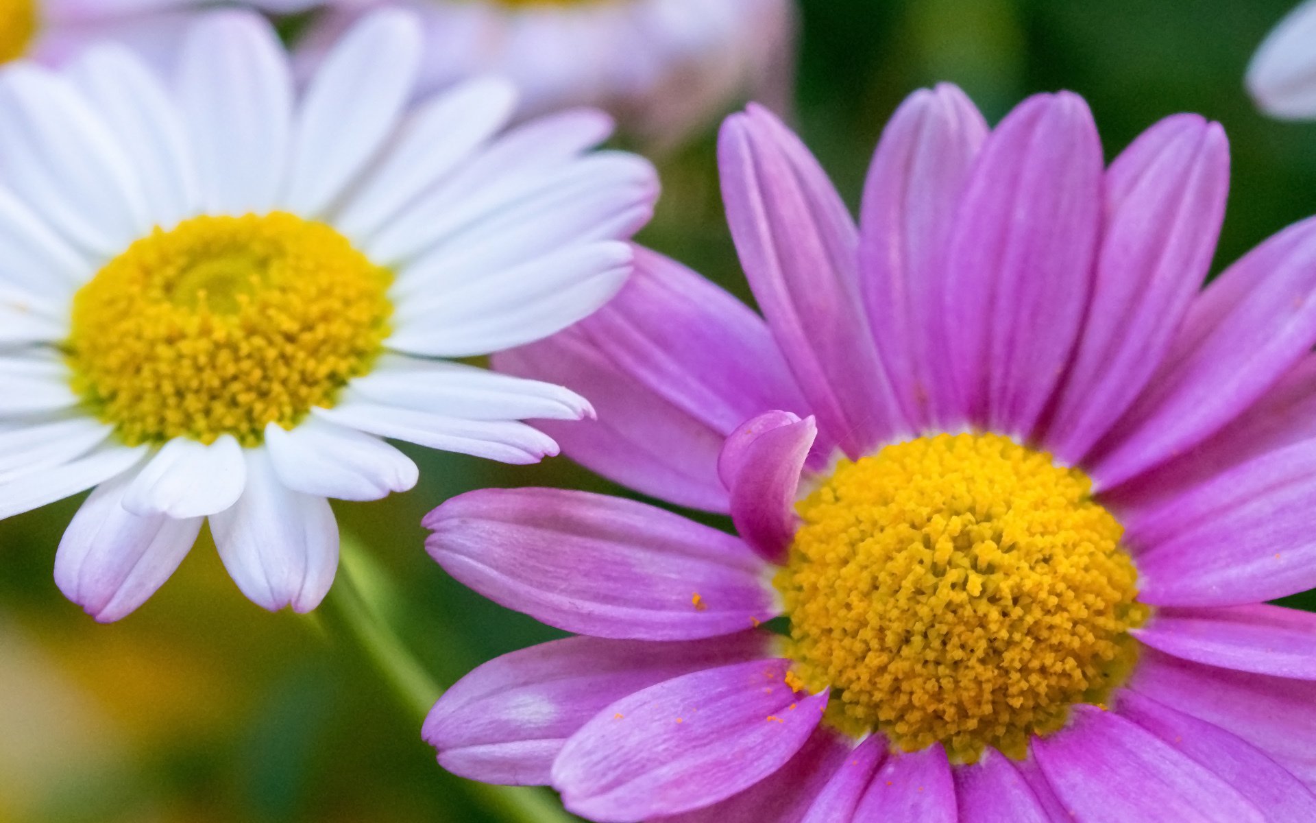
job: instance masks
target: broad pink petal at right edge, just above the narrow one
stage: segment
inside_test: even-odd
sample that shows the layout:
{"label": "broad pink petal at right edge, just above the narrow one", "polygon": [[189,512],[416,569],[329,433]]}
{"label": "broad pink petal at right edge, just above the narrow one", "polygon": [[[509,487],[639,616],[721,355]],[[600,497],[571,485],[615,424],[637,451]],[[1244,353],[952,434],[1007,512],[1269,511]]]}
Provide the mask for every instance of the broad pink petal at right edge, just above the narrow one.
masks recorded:
{"label": "broad pink petal at right edge, just above the narrow one", "polygon": [[1240,606],[1316,585],[1316,440],[1258,457],[1124,520],[1140,599]]}

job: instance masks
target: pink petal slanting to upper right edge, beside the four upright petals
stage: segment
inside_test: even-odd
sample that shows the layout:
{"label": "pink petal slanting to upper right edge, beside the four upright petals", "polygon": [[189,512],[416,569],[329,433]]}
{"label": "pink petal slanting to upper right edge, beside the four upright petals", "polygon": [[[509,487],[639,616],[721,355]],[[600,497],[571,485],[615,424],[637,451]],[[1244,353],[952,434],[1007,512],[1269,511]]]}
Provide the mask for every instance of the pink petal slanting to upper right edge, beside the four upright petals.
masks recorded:
{"label": "pink petal slanting to upper right edge, beside the four upright petals", "polygon": [[1146,391],[1091,456],[1101,489],[1200,444],[1316,344],[1316,220],[1230,266],[1194,300]]}

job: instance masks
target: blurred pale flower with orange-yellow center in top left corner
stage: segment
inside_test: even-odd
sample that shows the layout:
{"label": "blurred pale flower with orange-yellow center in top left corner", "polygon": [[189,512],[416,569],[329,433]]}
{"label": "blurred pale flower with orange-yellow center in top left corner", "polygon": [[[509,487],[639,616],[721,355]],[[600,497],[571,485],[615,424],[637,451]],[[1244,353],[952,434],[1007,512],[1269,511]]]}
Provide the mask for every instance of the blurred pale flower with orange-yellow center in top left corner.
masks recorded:
{"label": "blurred pale flower with orange-yellow center in top left corner", "polygon": [[[317,0],[249,0],[297,12]],[[187,26],[216,0],[0,0],[0,63],[32,58],[62,65],[93,42],[121,42],[157,65],[178,51]]]}

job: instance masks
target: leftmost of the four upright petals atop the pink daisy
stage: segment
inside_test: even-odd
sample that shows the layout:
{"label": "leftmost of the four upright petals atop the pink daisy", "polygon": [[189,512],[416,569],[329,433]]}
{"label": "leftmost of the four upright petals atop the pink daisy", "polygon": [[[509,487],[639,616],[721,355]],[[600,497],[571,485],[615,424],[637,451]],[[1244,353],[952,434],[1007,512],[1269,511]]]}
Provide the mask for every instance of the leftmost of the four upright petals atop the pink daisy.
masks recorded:
{"label": "leftmost of the four upright petals atop the pink daisy", "polygon": [[904,431],[859,304],[854,223],[817,161],[751,107],[722,126],[719,165],[750,288],[822,442],[858,457]]}

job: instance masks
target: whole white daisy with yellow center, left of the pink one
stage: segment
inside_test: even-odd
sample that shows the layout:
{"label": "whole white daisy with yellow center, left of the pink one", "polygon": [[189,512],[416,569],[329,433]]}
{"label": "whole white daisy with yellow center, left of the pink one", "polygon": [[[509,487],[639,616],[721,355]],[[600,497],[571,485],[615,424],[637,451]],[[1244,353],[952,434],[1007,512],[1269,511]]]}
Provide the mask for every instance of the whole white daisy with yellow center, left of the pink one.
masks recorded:
{"label": "whole white daisy with yellow center, left of the pink one", "polygon": [[351,29],[296,99],[261,17],[203,17],[171,88],[121,46],[0,72],[0,519],[95,487],[55,579],[99,620],[145,602],[209,518],[258,604],[315,608],[326,498],[416,483],[384,442],[529,464],[557,386],[443,358],[542,338],[630,271],[653,169],[607,116],[499,134],[475,79],[407,111],[405,12]]}

